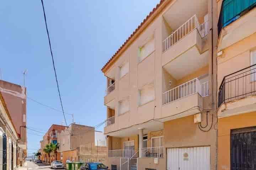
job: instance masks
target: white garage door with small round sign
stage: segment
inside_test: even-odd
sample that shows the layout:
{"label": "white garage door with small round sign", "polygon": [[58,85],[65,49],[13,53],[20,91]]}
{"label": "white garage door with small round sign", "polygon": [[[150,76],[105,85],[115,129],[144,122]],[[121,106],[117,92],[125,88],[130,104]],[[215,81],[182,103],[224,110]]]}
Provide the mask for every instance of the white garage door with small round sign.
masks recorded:
{"label": "white garage door with small round sign", "polygon": [[210,147],[167,149],[167,170],[210,170]]}

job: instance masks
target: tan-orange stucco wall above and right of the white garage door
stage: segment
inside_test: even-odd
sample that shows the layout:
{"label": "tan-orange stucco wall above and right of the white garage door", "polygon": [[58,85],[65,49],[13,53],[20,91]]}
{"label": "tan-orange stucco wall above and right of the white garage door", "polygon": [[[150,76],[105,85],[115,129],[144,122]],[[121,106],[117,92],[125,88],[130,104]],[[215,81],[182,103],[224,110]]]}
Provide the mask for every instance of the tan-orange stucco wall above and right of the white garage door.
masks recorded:
{"label": "tan-orange stucco wall above and right of the white garage door", "polygon": [[[208,115],[208,126],[207,128],[203,128],[203,130],[208,130],[210,128],[212,123],[212,116],[210,114]],[[213,117],[213,126],[208,132],[203,132],[198,128],[198,123],[194,123],[193,115],[166,121],[164,123],[165,147],[210,146],[210,167],[211,170],[215,170],[217,152],[217,130],[215,129],[215,124],[217,122],[216,117],[215,113]],[[206,125],[206,113],[204,113],[202,117],[202,126],[204,125]]]}

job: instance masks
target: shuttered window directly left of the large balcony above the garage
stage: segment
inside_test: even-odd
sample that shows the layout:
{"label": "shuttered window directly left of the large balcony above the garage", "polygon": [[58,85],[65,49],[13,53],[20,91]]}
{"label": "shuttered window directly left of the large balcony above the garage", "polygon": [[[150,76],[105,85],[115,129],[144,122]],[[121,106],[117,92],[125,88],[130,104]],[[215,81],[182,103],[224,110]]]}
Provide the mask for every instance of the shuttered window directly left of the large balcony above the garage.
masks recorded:
{"label": "shuttered window directly left of the large balcony above the garage", "polygon": [[139,90],[139,105],[153,101],[155,97],[154,84],[145,85]]}

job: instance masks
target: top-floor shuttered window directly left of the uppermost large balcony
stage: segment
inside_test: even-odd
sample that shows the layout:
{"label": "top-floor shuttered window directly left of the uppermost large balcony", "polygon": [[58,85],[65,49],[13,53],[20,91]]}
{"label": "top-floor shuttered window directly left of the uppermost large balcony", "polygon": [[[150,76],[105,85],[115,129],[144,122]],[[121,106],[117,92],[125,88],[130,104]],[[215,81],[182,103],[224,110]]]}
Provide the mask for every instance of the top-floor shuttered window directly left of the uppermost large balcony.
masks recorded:
{"label": "top-floor shuttered window directly left of the uppermost large balcony", "polygon": [[145,45],[139,48],[139,61],[148,57],[153,51],[155,51],[155,39],[151,37]]}

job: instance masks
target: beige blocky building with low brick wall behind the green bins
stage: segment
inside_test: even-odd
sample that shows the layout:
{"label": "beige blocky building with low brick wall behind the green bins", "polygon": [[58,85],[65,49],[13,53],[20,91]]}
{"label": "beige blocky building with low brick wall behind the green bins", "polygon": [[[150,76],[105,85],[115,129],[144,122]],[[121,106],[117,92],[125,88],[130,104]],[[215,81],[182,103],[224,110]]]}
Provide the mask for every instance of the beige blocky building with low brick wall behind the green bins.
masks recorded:
{"label": "beige blocky building with low brick wall behind the green bins", "polygon": [[94,127],[72,123],[58,134],[60,160],[91,162],[106,160],[106,138]]}

